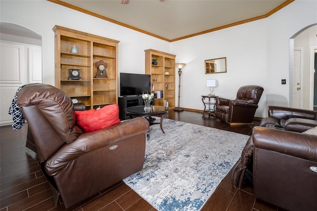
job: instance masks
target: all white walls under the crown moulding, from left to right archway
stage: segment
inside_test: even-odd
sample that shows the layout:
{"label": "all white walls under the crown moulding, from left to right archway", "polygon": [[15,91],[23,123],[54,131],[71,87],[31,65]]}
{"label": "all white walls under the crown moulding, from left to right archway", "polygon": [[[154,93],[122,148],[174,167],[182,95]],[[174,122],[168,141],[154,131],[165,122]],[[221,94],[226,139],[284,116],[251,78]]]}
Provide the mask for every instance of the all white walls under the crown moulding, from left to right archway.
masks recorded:
{"label": "all white walls under the crown moulding, from left to right archway", "polygon": [[[184,108],[203,109],[207,79],[217,79],[214,93],[227,98],[235,98],[242,85],[262,85],[257,117],[267,115],[268,104],[288,105],[289,39],[317,23],[317,1],[296,0],[266,19],[169,43],[45,0],[1,0],[0,4],[1,22],[21,25],[43,37],[43,83],[54,84],[52,28],[60,25],[120,41],[119,72],[144,73],[148,48],[177,55],[176,62],[186,63],[181,76]],[[219,57],[227,57],[227,73],[205,75],[204,60]],[[176,73],[176,87],[177,78]],[[281,85],[281,79],[287,84]]]}

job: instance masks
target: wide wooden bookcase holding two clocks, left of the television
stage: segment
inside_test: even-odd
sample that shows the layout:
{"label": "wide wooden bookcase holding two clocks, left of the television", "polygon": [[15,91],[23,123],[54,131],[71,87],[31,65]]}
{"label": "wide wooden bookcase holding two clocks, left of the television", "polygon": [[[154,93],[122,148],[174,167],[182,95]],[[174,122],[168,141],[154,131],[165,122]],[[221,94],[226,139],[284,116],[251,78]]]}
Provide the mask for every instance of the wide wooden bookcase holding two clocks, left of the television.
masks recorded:
{"label": "wide wooden bookcase holding two clocks, left of the television", "polygon": [[[54,26],[55,86],[71,98],[96,109],[118,103],[118,42],[115,40]],[[76,46],[77,53],[72,52]],[[108,78],[95,78],[96,62],[107,63]],[[80,80],[69,80],[69,69],[80,70]]]}

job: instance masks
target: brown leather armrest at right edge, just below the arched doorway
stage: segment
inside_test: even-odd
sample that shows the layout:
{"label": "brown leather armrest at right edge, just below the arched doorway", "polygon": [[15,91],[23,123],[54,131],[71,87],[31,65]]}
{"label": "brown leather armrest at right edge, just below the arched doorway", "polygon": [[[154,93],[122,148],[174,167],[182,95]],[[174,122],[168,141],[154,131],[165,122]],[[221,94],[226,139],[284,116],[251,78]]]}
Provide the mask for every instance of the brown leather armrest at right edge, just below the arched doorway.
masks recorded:
{"label": "brown leather armrest at right edge, just below the arched doorway", "polygon": [[304,118],[317,120],[317,112],[312,110],[296,109],[281,106],[268,106],[268,116],[275,117],[279,120],[287,120],[290,118]]}

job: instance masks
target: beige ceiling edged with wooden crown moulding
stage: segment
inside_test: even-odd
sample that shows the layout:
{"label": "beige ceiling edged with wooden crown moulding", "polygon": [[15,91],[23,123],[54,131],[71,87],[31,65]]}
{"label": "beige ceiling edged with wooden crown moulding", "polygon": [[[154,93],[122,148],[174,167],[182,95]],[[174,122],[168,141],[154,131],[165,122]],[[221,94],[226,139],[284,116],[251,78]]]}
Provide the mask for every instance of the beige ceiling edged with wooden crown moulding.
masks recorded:
{"label": "beige ceiling edged with wooden crown moulding", "polygon": [[[49,0],[167,41],[264,18],[294,0]],[[259,19],[258,18],[258,19]]]}

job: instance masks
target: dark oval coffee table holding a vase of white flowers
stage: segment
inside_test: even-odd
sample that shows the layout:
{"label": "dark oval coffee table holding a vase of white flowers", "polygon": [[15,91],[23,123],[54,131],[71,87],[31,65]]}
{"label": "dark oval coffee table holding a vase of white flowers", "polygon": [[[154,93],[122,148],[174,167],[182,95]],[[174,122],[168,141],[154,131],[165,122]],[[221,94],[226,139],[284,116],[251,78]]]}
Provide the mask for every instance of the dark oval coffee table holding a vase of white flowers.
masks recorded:
{"label": "dark oval coffee table holding a vase of white flowers", "polygon": [[[168,114],[168,108],[164,107],[164,106],[151,106],[151,107],[152,107],[152,109],[149,112],[146,112],[144,110],[144,106],[132,106],[132,107],[128,107],[124,110],[125,110],[126,115],[130,116],[131,118],[134,118],[134,117],[147,118],[147,120],[150,123],[150,126],[159,124],[160,129],[162,130],[163,133],[165,133],[163,130],[163,127],[162,127],[162,122],[163,122],[164,117],[166,117]],[[159,123],[155,123],[154,122],[155,118],[152,118],[152,117],[160,117]]]}

